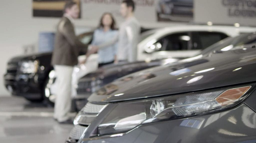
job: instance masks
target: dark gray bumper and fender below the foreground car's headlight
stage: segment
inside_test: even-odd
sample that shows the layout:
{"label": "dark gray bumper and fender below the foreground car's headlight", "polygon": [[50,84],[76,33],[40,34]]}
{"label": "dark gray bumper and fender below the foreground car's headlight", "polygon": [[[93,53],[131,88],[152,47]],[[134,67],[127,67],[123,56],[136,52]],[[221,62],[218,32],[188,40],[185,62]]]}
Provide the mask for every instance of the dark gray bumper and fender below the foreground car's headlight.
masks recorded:
{"label": "dark gray bumper and fender below the foreground car's headlight", "polygon": [[167,143],[256,141],[256,113],[241,103],[236,108],[191,118],[138,126],[122,136],[80,139],[81,143]]}

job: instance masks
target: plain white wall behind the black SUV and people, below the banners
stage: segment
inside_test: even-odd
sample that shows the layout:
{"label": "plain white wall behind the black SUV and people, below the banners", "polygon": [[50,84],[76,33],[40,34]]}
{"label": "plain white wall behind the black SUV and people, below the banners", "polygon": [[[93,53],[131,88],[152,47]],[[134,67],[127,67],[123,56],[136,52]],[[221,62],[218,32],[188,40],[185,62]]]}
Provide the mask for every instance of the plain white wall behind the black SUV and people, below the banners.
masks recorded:
{"label": "plain white wall behind the black SUV and people, below the banners", "polygon": [[[7,61],[24,54],[23,46],[36,44],[42,31],[55,31],[58,18],[33,18],[32,0],[1,0],[0,5],[0,96],[8,96],[3,75]],[[98,21],[76,20],[77,27],[96,27]],[[142,23],[144,27],[163,27],[170,23]],[[172,24],[173,25],[173,24]]]}

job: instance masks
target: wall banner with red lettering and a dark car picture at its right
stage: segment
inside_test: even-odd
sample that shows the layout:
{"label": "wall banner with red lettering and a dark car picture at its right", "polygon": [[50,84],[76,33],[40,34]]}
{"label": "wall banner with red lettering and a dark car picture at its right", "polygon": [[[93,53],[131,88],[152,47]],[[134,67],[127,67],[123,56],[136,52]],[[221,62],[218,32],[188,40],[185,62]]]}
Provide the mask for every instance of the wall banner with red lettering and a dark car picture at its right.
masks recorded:
{"label": "wall banner with red lettering and a dark car picture at its right", "polygon": [[[95,20],[104,12],[111,12],[120,21],[123,0],[82,0],[82,18]],[[193,21],[193,0],[134,0],[135,16],[143,22]]]}

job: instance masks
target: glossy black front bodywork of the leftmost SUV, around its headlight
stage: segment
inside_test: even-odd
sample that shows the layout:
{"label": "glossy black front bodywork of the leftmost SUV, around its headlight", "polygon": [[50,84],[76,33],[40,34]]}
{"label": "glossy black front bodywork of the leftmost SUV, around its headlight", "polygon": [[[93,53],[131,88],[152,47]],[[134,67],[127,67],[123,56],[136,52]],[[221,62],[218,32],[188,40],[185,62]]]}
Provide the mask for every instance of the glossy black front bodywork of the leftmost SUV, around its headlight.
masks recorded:
{"label": "glossy black front bodywork of the leftmost SUV, around its headlight", "polygon": [[[27,56],[18,56],[10,59],[7,63],[7,73],[4,75],[6,87],[12,87],[13,95],[24,96],[27,99],[42,99],[42,86],[53,69],[50,65],[52,53],[42,53]],[[23,74],[19,71],[19,64],[22,61],[38,60],[40,67],[35,74]],[[42,68],[41,68],[42,67]]]}

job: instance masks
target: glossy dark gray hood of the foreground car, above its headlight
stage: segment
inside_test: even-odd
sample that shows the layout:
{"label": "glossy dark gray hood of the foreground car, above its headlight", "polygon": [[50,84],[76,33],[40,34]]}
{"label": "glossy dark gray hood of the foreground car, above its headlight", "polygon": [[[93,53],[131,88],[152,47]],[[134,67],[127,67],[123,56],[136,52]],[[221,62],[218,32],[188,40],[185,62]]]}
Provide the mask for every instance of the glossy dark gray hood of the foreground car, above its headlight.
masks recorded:
{"label": "glossy dark gray hood of the foreground car, above its headlight", "polygon": [[90,102],[118,102],[256,81],[256,49],[238,47],[136,72],[93,93]]}

